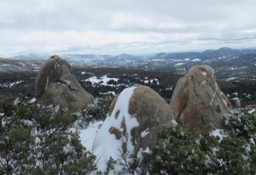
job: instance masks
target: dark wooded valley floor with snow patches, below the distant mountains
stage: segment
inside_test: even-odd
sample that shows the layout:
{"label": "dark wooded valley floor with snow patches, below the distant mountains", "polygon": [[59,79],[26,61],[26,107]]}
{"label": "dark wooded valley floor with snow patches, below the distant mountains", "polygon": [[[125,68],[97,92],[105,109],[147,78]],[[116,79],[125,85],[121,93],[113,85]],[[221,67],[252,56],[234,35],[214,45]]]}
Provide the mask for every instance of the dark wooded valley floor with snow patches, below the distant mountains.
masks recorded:
{"label": "dark wooded valley floor with snow patches, below the distant mountains", "polygon": [[[22,96],[24,99],[31,100],[34,97],[38,68],[43,61],[19,61],[19,63],[6,59],[4,61],[5,64],[9,61],[10,66],[5,67],[5,71],[1,71],[0,74],[0,97]],[[11,65],[15,65],[15,69]],[[147,71],[134,67],[89,67],[77,63],[71,63],[71,66],[82,87],[94,97],[101,97],[104,94],[117,95],[130,85],[139,83],[158,92],[166,102],[170,102],[177,81],[186,73],[186,71],[175,70]],[[214,69],[217,70],[216,75],[219,69]],[[241,69],[234,71],[239,73],[239,70]],[[256,103],[255,75],[240,77],[236,75],[228,79],[216,77],[216,80],[222,92],[229,98],[239,98],[242,106],[245,106]]]}

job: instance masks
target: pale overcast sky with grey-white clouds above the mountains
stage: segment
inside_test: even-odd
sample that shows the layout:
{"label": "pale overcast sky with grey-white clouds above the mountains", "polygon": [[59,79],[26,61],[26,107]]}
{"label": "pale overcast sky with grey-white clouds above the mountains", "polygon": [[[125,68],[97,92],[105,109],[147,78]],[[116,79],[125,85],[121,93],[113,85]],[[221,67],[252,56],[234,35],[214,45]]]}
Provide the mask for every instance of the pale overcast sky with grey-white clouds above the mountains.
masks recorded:
{"label": "pale overcast sky with grey-white clouds above the mountains", "polygon": [[0,57],[256,46],[255,0],[0,0]]}

